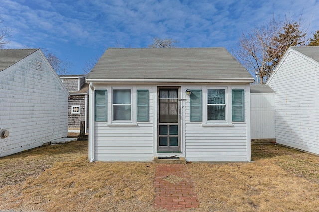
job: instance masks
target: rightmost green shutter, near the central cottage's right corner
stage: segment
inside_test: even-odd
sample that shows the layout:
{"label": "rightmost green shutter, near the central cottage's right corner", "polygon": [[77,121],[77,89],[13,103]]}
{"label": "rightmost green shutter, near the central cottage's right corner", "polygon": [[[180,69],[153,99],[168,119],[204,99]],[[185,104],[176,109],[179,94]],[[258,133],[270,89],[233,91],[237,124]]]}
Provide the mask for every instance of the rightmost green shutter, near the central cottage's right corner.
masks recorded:
{"label": "rightmost green shutter, near the central cottage's right corner", "polygon": [[245,91],[232,90],[232,121],[244,122],[245,121]]}

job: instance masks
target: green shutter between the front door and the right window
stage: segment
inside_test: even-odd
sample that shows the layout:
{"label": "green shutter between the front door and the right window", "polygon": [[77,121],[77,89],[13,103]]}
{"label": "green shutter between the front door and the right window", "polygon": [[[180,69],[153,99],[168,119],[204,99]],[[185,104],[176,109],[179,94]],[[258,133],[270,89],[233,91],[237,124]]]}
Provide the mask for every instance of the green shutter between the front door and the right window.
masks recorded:
{"label": "green shutter between the front door and the right window", "polygon": [[190,94],[190,121],[202,121],[202,90],[192,90]]}

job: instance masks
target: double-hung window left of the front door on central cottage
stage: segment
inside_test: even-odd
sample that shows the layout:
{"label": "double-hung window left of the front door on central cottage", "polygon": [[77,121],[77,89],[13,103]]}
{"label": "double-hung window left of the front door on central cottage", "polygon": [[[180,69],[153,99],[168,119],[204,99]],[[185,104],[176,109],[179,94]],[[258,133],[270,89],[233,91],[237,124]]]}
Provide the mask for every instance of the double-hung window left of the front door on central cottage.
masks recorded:
{"label": "double-hung window left of the front door on central cottage", "polygon": [[132,88],[112,88],[112,121],[132,122]]}

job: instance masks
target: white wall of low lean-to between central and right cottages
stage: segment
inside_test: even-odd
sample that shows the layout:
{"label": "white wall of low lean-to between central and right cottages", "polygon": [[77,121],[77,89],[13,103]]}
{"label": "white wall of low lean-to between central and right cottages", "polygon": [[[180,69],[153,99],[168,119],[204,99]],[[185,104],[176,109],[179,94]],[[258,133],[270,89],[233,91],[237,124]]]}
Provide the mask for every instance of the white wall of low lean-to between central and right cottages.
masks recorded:
{"label": "white wall of low lean-to between central and right cottages", "polygon": [[275,94],[251,93],[250,120],[252,139],[275,138]]}

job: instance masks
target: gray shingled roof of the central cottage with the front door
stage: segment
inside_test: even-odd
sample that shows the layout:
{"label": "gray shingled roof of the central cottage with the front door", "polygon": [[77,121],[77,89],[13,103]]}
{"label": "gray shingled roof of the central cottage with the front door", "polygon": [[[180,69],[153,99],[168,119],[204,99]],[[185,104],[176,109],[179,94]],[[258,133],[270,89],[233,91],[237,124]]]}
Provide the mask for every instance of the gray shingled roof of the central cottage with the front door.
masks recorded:
{"label": "gray shingled roof of the central cottage with the front door", "polygon": [[96,82],[123,79],[253,81],[225,48],[109,48],[86,79]]}

